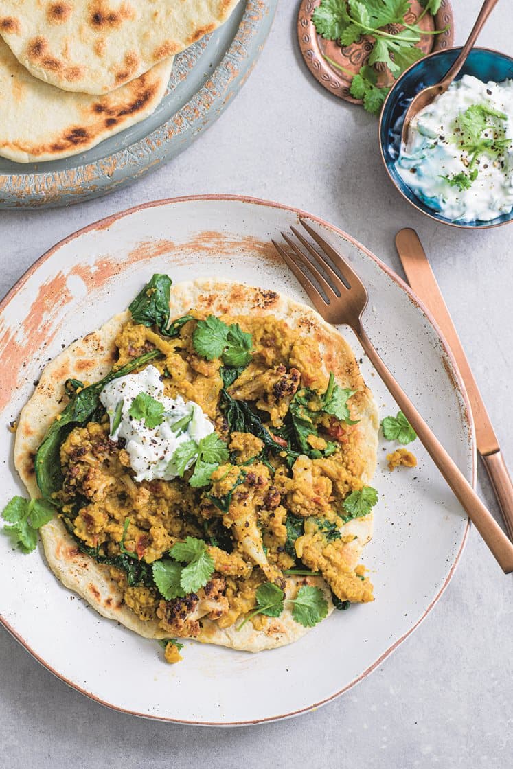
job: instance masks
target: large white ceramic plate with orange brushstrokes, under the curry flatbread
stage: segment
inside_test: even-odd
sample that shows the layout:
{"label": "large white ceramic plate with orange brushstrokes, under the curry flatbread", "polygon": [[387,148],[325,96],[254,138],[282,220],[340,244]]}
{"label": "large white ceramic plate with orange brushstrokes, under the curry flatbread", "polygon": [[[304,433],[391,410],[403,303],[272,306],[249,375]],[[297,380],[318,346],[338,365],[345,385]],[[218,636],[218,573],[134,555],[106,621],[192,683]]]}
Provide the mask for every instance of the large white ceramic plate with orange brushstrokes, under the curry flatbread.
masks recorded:
{"label": "large white ceramic plate with orange brushstrokes, under the curry flatbread", "polygon": [[[98,222],[48,251],[0,306],[2,424],[18,414],[45,362],[127,307],[153,272],[175,281],[215,275],[276,289],[308,303],[271,238],[298,211],[237,198],[184,198]],[[318,221],[311,217],[311,221]],[[325,225],[328,227],[328,225]],[[417,301],[365,248],[329,237],[365,281],[365,328],[458,466],[474,480],[471,421],[453,364]],[[355,338],[347,329],[351,344]],[[396,408],[362,363],[381,416]],[[338,612],[291,646],[252,655],[187,642],[185,660],[162,661],[146,641],[100,618],[48,571],[0,537],[0,614],[8,630],[68,684],[118,710],[193,724],[244,724],[298,714],[351,687],[398,646],[439,598],[461,554],[468,521],[425,451],[415,470],[386,469],[379,449],[375,535],[365,564],[375,602]],[[23,493],[12,441],[0,447],[7,501]]]}

